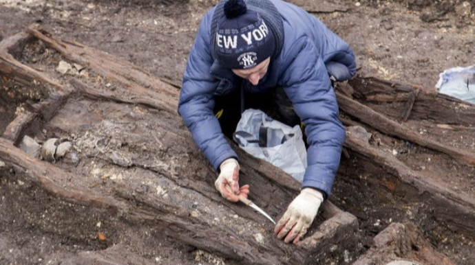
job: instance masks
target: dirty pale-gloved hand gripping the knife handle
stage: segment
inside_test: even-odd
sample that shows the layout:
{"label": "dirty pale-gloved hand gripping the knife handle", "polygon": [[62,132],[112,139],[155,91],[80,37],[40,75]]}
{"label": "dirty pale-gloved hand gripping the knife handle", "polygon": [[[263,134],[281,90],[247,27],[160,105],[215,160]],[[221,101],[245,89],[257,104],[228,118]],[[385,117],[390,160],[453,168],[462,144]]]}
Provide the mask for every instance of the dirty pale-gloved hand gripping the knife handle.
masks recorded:
{"label": "dirty pale-gloved hand gripping the knife handle", "polygon": [[238,196],[249,195],[249,185],[239,187],[239,163],[236,159],[226,159],[220,165],[220,175],[214,185],[220,194],[232,202],[239,201]]}

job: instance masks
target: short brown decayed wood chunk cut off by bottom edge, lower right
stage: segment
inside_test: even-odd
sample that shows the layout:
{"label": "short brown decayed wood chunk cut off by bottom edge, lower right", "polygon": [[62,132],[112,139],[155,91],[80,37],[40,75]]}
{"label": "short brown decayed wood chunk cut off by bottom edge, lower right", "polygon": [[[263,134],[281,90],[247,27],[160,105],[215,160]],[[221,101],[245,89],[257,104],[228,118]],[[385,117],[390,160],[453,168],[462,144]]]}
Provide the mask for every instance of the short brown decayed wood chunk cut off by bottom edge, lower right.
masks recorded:
{"label": "short brown decayed wood chunk cut off by bottom edge, lower right", "polygon": [[422,238],[414,224],[391,224],[373,241],[368,253],[352,265],[386,265],[398,260],[423,265],[454,265]]}

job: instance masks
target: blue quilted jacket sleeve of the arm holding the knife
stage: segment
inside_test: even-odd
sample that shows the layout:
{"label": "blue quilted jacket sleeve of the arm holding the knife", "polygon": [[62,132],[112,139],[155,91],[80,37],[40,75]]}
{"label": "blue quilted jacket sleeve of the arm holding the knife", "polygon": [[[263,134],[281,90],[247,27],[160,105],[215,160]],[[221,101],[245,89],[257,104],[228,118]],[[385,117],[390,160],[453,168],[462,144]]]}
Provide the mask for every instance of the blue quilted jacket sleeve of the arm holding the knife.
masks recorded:
{"label": "blue quilted jacket sleeve of the arm holding the knife", "polygon": [[213,64],[209,45],[210,21],[211,15],[204,16],[191,49],[178,100],[178,113],[204,156],[218,171],[222,161],[230,157],[237,158],[237,154],[222,134],[218,119],[213,115],[213,95],[218,87],[218,80],[210,74]]}

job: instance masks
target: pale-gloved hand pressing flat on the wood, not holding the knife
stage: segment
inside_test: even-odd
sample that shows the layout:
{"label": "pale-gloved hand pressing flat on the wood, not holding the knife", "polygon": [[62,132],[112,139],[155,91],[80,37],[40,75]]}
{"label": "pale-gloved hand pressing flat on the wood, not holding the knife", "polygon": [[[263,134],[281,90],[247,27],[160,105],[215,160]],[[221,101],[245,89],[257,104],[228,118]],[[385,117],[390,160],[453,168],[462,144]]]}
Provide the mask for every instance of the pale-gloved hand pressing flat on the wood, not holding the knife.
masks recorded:
{"label": "pale-gloved hand pressing flat on the wood, not holding the knife", "polygon": [[284,242],[289,243],[293,240],[293,244],[297,244],[307,233],[323,201],[324,196],[317,189],[302,189],[275,225],[274,233],[277,234],[277,238],[282,239],[287,235]]}

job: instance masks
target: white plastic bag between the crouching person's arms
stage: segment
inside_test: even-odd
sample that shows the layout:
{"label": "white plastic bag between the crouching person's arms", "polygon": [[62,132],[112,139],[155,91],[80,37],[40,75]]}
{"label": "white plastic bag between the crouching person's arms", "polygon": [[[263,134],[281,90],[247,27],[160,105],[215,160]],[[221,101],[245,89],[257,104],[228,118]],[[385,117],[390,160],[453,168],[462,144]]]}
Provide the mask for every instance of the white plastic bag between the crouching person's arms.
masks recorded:
{"label": "white plastic bag between the crouching person's arms", "polygon": [[233,138],[249,154],[282,168],[302,182],[307,150],[299,126],[292,128],[251,108],[242,113]]}

